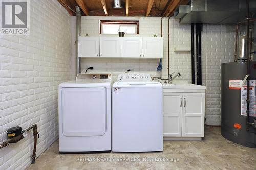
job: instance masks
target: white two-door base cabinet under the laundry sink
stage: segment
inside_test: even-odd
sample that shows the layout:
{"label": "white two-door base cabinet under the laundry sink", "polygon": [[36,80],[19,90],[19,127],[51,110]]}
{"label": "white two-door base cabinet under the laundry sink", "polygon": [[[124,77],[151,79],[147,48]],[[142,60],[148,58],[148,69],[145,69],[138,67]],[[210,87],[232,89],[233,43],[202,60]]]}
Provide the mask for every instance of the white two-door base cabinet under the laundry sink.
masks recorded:
{"label": "white two-door base cabinet under the laundry sink", "polygon": [[[163,89],[163,136],[165,140],[204,137],[205,90],[201,93]],[[179,137],[179,138],[177,138]]]}

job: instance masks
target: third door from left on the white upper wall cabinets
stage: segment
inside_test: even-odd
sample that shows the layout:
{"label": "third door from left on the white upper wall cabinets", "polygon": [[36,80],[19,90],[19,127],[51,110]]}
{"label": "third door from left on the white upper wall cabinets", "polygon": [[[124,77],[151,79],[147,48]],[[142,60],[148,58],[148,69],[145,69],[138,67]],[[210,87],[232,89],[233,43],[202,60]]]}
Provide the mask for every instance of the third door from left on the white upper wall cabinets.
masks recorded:
{"label": "third door from left on the white upper wall cabinets", "polygon": [[121,57],[141,57],[142,37],[122,37]]}

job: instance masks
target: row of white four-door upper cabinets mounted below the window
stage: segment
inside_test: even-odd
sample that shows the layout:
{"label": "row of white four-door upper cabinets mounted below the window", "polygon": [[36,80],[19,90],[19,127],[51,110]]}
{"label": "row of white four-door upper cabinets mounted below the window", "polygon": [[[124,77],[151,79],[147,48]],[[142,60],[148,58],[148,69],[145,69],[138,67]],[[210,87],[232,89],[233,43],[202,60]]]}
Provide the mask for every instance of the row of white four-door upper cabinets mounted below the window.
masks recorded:
{"label": "row of white four-door upper cabinets mounted below the window", "polygon": [[162,37],[79,37],[78,57],[162,58]]}

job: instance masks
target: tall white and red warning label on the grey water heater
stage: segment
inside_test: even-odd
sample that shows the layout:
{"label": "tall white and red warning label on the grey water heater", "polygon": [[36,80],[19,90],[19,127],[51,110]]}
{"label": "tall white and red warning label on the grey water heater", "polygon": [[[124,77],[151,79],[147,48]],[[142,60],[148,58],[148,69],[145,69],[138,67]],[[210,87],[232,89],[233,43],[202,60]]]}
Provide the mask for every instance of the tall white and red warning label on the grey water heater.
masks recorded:
{"label": "tall white and red warning label on the grey water heater", "polygon": [[[246,83],[247,84],[247,81]],[[256,95],[255,95],[255,89],[256,89],[256,80],[250,80],[250,87],[249,87],[249,93],[250,93],[250,114],[251,117],[256,117]],[[246,116],[246,109],[247,109],[247,86],[242,86],[241,88],[241,115]]]}

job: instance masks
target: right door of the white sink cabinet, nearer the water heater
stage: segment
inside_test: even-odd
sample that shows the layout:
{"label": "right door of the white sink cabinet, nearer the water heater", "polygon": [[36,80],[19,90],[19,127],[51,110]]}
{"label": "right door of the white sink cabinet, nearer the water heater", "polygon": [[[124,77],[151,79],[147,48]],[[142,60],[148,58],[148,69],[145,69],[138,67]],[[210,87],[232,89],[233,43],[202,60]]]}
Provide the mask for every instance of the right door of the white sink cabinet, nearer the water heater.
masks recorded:
{"label": "right door of the white sink cabinet, nearer the water heater", "polygon": [[205,94],[183,93],[182,136],[204,136]]}

